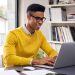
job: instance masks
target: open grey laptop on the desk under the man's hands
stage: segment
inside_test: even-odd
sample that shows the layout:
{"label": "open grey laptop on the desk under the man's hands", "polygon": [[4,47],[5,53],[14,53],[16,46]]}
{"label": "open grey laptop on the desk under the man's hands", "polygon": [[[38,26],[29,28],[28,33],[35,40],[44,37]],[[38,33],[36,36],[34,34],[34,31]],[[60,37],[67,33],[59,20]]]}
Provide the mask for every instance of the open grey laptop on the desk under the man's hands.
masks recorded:
{"label": "open grey laptop on the desk under the man's hands", "polygon": [[75,65],[75,43],[63,43],[53,66],[34,65],[43,68],[55,69]]}

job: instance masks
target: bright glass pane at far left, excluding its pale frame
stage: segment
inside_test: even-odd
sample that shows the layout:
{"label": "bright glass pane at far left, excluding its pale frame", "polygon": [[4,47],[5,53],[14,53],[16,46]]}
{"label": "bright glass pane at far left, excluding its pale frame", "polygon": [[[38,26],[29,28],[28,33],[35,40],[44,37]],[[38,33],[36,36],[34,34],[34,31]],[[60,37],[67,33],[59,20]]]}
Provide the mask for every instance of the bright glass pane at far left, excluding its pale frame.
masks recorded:
{"label": "bright glass pane at far left, excluding its pale frame", "polygon": [[6,35],[7,25],[7,0],[0,0],[0,53],[2,53],[2,45]]}

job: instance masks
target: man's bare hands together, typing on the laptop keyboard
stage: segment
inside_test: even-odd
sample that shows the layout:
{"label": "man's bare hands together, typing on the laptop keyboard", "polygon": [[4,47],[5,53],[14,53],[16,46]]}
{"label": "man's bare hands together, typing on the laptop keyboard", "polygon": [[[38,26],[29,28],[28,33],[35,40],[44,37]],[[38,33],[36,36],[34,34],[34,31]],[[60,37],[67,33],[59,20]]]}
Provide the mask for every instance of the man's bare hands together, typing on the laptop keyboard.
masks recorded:
{"label": "man's bare hands together, typing on the laptop keyboard", "polygon": [[41,64],[48,64],[53,65],[55,62],[56,57],[50,58],[50,57],[44,57],[42,59],[33,59],[32,64],[33,65],[41,65]]}

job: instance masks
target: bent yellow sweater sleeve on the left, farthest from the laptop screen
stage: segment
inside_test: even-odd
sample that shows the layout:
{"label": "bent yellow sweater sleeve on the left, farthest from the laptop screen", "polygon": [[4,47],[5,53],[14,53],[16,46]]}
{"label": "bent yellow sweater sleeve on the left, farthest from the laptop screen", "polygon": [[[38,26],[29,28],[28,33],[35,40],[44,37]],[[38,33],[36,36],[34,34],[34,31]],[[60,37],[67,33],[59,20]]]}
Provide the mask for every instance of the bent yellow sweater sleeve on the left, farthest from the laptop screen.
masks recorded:
{"label": "bent yellow sweater sleeve on the left, farthest from the laptop screen", "polygon": [[17,37],[9,32],[3,50],[3,62],[5,67],[14,65],[29,65],[32,58],[25,58],[16,55]]}

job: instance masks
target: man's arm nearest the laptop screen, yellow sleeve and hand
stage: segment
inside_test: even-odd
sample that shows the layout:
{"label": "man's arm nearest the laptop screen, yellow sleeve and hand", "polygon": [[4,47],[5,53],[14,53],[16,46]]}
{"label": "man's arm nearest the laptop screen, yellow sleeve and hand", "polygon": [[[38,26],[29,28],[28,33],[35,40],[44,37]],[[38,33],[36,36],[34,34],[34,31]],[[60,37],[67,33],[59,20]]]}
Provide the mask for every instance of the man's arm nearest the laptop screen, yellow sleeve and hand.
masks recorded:
{"label": "man's arm nearest the laptop screen, yellow sleeve and hand", "polygon": [[[41,48],[42,48],[42,50],[45,51],[45,53],[47,54],[47,57],[41,59],[41,61],[40,61],[41,63],[39,63],[39,64],[53,64],[55,62],[55,59],[56,59],[58,53],[56,50],[54,50],[50,46],[50,44],[47,42],[46,38],[44,37],[44,35],[42,33],[41,33],[41,36],[42,36]],[[33,62],[37,62],[37,61],[33,60]]]}

